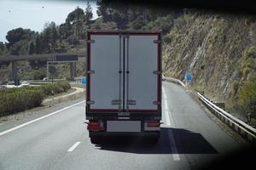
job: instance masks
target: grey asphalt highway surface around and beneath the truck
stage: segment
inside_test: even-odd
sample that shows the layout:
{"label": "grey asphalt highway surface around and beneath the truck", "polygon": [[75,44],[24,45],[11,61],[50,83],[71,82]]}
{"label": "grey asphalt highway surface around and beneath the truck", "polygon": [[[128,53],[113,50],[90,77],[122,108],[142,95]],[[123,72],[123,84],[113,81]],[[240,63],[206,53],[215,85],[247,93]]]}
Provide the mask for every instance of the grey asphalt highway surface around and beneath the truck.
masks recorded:
{"label": "grey asphalt highway surface around and beneath the truck", "polygon": [[90,144],[80,100],[15,128],[13,122],[0,126],[0,169],[197,169],[244,147],[207,116],[188,90],[171,82],[162,88],[158,144],[123,137]]}

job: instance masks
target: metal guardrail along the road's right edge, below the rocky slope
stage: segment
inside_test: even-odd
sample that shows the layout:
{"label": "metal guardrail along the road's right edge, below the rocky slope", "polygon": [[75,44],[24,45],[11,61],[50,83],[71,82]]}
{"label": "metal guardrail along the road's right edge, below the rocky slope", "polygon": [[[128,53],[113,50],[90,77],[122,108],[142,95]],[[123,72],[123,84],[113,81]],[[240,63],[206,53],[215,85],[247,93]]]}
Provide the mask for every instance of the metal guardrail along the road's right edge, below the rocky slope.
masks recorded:
{"label": "metal guardrail along the road's right edge, below the rocky slope", "polygon": [[[166,79],[170,82],[177,82],[181,86],[185,87],[183,82],[180,80],[177,80],[172,77],[163,77],[163,80]],[[226,123],[229,127],[231,127],[233,130],[236,131],[236,133],[239,133],[243,138],[247,139],[249,142],[256,143],[256,129],[247,125],[247,123],[242,122],[235,116],[232,116],[227,111],[224,111],[217,105],[214,105],[212,101],[207,99],[205,96],[203,96],[200,93],[197,93],[198,98],[201,100],[203,105],[205,105],[209,111],[211,111],[214,115],[218,116],[218,118]]]}

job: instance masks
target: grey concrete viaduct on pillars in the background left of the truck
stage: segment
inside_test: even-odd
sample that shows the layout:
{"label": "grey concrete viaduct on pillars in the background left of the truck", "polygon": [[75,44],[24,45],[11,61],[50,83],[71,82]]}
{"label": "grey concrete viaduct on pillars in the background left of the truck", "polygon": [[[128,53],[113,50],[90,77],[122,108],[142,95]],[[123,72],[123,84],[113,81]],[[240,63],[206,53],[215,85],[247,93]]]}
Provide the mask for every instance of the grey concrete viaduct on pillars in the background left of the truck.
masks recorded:
{"label": "grey concrete viaduct on pillars in the background left of the truck", "polygon": [[[18,64],[20,60],[47,60],[47,72],[49,63],[70,63],[70,78],[73,80],[76,73],[76,62],[85,62],[86,50],[81,49],[76,52],[67,53],[52,53],[52,54],[26,54],[26,55],[3,55],[0,56],[0,62],[11,62],[12,64],[12,78],[13,80],[18,79]],[[47,74],[49,77],[49,74]]]}

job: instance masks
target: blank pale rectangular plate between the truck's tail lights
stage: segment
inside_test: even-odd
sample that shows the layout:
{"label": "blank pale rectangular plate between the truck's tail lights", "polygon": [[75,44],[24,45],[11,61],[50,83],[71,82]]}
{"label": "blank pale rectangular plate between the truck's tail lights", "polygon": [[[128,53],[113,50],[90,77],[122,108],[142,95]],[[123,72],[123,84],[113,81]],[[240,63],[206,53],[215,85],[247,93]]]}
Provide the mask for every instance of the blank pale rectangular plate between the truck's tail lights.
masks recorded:
{"label": "blank pale rectangular plate between the truck's tail lights", "polygon": [[107,132],[141,132],[141,122],[107,121]]}

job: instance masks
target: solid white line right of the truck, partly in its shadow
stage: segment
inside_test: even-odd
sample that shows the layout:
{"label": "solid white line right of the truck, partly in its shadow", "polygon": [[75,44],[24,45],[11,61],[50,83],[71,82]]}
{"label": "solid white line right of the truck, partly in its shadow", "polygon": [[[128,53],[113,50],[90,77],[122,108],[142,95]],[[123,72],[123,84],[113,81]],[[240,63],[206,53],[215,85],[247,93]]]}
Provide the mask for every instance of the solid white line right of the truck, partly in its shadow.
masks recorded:
{"label": "solid white line right of the truck, partly in its shadow", "polygon": [[[166,112],[166,125],[171,126],[171,121],[170,121],[170,116],[169,116],[170,109],[167,105],[166,90],[165,90],[165,88],[162,88],[162,89],[163,89],[164,105],[165,105],[165,112]],[[172,121],[172,126],[174,126],[173,121]],[[168,136],[169,136],[169,139],[170,139],[171,148],[172,148],[172,152],[173,152],[173,154],[172,154],[173,160],[174,161],[180,161],[180,158],[179,158],[179,155],[178,155],[178,152],[177,152],[177,145],[176,145],[175,139],[173,137],[172,129],[168,129]]]}

